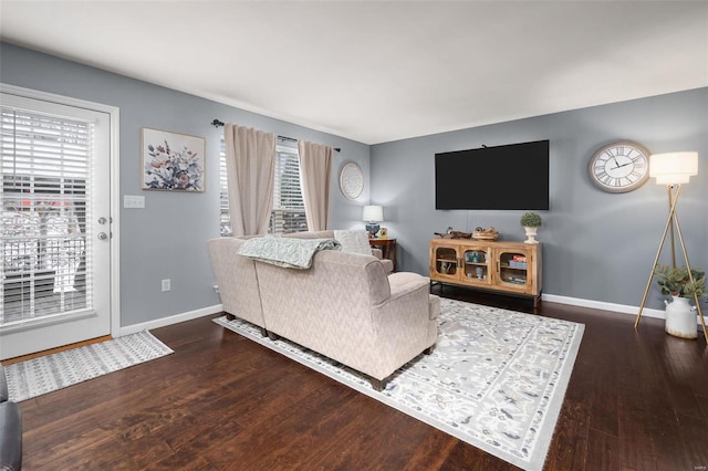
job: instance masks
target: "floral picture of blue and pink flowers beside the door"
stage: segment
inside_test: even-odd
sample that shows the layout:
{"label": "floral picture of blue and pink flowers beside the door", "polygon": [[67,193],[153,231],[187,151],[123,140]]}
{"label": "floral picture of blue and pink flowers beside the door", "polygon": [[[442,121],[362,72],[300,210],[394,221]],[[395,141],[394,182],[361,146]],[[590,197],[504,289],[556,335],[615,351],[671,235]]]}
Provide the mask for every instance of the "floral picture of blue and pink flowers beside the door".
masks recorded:
{"label": "floral picture of blue and pink flowers beside the door", "polygon": [[204,137],[143,128],[143,189],[204,191]]}

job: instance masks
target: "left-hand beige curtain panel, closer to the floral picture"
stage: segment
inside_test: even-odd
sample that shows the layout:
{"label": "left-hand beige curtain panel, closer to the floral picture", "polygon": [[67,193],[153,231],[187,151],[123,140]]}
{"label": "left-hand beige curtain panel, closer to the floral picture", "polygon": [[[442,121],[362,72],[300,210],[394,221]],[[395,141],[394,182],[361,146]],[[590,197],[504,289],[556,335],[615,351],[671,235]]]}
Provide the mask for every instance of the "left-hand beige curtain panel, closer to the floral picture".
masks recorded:
{"label": "left-hand beige curtain panel, closer to the floral picture", "polygon": [[273,203],[275,135],[227,124],[223,137],[233,236],[267,233]]}

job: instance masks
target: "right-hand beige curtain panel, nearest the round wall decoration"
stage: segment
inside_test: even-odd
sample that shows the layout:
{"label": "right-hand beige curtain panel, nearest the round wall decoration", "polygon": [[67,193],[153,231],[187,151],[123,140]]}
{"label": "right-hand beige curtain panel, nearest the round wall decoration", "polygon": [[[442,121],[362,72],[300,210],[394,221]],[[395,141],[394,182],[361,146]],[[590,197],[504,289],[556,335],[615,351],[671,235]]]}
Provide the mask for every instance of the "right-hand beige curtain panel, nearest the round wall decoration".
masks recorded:
{"label": "right-hand beige curtain panel, nearest the round wall decoration", "polygon": [[326,230],[330,213],[332,147],[300,140],[298,153],[308,229]]}

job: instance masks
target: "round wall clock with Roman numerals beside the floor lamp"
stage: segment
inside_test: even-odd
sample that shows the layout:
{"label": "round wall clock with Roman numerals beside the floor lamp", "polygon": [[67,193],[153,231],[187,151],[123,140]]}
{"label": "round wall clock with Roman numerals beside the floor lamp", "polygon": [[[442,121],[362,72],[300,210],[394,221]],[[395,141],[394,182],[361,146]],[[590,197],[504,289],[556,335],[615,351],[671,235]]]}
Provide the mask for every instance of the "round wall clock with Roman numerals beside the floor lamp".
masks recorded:
{"label": "round wall clock with Roman numerals beside the floor lamp", "polygon": [[649,178],[649,151],[632,142],[610,144],[593,154],[587,169],[590,179],[602,190],[636,190]]}

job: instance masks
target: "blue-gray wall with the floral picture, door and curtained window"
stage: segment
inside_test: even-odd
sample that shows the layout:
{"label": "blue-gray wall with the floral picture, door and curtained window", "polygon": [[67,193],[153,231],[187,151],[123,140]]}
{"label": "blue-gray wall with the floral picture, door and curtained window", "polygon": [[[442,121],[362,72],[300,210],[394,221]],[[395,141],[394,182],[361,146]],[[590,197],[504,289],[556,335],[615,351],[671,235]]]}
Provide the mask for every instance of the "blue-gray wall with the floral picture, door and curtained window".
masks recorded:
{"label": "blue-gray wall with the floral picture, door and curtained window", "polygon": [[[239,108],[97,69],[0,43],[0,82],[121,108],[121,201],[145,196],[146,209],[121,209],[121,325],[149,322],[219,304],[206,241],[219,237],[219,118],[298,139],[341,147],[334,153],[331,227],[361,227],[368,203],[369,147]],[[140,190],[143,126],[202,136],[207,143],[206,191]],[[339,191],[336,176],[346,161],[362,167],[366,187],[357,201]],[[171,291],[160,292],[160,280]]]}

